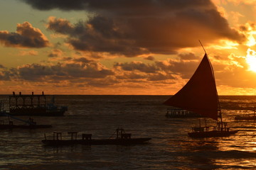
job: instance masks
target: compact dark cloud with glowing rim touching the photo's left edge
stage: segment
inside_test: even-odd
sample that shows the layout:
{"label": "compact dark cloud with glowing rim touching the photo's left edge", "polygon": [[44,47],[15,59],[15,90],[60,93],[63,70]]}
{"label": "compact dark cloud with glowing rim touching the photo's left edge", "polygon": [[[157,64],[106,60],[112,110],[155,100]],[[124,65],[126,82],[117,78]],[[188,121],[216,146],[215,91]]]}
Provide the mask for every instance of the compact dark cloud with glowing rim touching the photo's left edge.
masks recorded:
{"label": "compact dark cloud with glowing rim touching the photo's left edge", "polygon": [[16,33],[0,31],[0,42],[6,47],[47,47],[49,41],[38,28],[24,22],[17,25]]}

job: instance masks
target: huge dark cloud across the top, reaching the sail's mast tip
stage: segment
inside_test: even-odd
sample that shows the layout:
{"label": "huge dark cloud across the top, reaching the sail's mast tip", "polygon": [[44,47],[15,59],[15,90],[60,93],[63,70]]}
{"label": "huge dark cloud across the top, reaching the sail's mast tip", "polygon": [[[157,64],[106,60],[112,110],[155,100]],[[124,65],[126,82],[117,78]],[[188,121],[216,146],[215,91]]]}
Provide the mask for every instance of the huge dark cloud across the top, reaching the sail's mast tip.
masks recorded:
{"label": "huge dark cloud across the top, reaching the sail's mast tip", "polygon": [[237,42],[245,36],[230,28],[210,0],[21,0],[33,8],[86,10],[88,21],[71,24],[52,19],[48,29],[68,35],[75,50],[109,52],[128,57],[143,53],[174,54],[183,47],[219,39]]}

